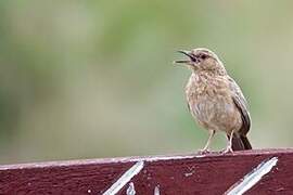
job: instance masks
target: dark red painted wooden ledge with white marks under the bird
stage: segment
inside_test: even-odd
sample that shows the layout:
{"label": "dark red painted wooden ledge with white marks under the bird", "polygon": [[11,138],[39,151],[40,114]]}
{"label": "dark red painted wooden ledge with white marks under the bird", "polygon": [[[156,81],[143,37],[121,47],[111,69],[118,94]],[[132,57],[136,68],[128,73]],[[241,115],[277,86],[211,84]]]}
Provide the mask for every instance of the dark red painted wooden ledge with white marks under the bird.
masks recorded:
{"label": "dark red painted wooden ledge with white marks under the bird", "polygon": [[0,166],[0,194],[293,194],[293,150]]}

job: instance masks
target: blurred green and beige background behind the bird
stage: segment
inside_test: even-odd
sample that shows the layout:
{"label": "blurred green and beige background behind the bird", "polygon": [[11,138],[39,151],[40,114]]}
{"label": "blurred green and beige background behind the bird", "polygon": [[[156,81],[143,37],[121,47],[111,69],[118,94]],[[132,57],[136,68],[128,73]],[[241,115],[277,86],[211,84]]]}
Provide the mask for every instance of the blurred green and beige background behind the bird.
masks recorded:
{"label": "blurred green and beige background behind the bird", "polygon": [[[214,50],[254,147],[293,146],[293,1],[1,1],[0,164],[192,153],[178,49]],[[218,134],[214,150],[225,147]]]}

